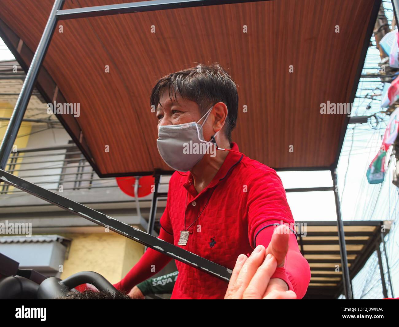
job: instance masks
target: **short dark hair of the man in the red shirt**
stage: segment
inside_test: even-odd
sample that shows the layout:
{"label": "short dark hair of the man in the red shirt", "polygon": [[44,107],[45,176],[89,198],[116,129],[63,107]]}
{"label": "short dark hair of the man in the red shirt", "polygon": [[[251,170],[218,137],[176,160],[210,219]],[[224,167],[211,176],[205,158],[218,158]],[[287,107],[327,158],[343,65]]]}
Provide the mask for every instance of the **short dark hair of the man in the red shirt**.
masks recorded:
{"label": "short dark hair of the man in the red shirt", "polygon": [[237,85],[229,73],[219,63],[197,66],[170,73],[160,78],[150,96],[150,105],[160,104],[162,93],[168,89],[169,97],[176,101],[180,95],[184,99],[198,104],[201,113],[205,114],[209,108],[223,102],[227,106],[225,134],[231,141],[231,131],[237,123],[238,92]]}

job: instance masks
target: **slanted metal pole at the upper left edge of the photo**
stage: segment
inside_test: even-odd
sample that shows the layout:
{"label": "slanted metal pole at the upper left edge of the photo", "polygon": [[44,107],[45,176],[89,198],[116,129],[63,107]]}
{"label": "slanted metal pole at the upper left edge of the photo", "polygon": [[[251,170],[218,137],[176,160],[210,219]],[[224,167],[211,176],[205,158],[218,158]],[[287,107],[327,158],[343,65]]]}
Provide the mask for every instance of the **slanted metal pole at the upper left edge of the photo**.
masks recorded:
{"label": "slanted metal pole at the upper left edge of the photo", "polygon": [[1,169],[6,168],[8,157],[10,156],[11,149],[18,134],[18,130],[20,129],[26,107],[28,107],[30,96],[32,95],[36,79],[38,78],[40,72],[40,67],[43,64],[45,54],[55,30],[55,25],[58,21],[57,11],[62,8],[64,1],[65,0],[55,0],[53,9],[51,9],[49,19],[47,20],[47,24],[44,28],[43,35],[41,36],[38,48],[36,49],[35,55],[32,58],[32,63],[30,64],[28,73],[26,74],[21,93],[18,96],[10,123],[8,124],[7,131],[4,134],[4,138],[0,146]]}

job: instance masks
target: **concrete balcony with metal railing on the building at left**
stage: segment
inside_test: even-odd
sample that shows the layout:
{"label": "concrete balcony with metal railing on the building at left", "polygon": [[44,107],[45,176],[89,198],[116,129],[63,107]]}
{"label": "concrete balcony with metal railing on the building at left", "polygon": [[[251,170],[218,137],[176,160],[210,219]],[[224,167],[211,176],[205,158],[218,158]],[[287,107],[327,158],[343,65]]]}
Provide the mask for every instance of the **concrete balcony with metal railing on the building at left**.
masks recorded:
{"label": "concrete balcony with metal railing on the building at left", "polygon": [[[6,170],[73,201],[101,211],[126,224],[146,230],[152,194],[139,198],[140,216],[135,199],[124,194],[115,178],[99,178],[79,149],[64,145],[36,149],[19,149],[12,153]],[[170,176],[163,176],[159,192],[168,191]],[[156,222],[166,206],[158,200]],[[0,222],[32,223],[32,232],[95,232],[103,227],[75,216],[31,194],[0,183]],[[157,224],[155,226],[157,230]]]}

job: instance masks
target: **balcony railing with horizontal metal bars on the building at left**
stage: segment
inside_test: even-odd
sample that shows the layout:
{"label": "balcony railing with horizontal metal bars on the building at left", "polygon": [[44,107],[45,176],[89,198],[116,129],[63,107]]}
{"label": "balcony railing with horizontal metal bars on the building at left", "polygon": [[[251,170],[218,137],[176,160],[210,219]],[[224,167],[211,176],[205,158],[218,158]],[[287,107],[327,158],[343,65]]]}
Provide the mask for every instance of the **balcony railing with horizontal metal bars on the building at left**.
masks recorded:
{"label": "balcony railing with horizontal metal bars on the building at left", "polygon": [[[12,153],[6,170],[52,191],[118,187],[115,178],[99,178],[74,144]],[[0,183],[0,194],[22,192]]]}

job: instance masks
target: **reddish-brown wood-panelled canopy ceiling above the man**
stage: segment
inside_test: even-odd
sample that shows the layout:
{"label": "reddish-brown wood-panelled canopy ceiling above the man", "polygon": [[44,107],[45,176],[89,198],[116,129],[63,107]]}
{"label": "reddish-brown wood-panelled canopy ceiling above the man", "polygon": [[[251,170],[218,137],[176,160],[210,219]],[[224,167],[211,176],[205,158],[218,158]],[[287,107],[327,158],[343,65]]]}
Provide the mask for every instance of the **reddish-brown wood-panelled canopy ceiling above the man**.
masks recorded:
{"label": "reddish-brown wood-panelled canopy ceiling above the man", "polygon": [[[63,9],[121,2],[132,0],[66,0]],[[279,170],[334,168],[348,117],[322,115],[320,104],[353,102],[379,3],[277,0],[61,20],[38,89],[49,102],[80,103],[80,117],[58,116],[99,176],[145,174],[170,170],[149,104],[157,79],[219,62],[238,85],[240,151]],[[25,69],[52,5],[0,0],[1,36]]]}

